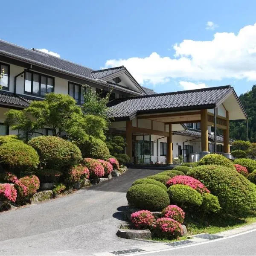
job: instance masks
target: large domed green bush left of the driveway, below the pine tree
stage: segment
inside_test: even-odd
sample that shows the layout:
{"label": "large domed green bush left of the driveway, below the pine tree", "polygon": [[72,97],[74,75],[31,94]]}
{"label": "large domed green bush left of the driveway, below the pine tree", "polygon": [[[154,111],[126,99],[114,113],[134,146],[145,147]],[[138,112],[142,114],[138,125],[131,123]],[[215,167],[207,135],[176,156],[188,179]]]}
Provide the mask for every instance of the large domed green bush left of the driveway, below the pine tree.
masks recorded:
{"label": "large domed green bush left of the driveway, below the pine tree", "polygon": [[80,149],[70,141],[55,136],[35,137],[28,143],[38,152],[45,169],[61,169],[81,160]]}

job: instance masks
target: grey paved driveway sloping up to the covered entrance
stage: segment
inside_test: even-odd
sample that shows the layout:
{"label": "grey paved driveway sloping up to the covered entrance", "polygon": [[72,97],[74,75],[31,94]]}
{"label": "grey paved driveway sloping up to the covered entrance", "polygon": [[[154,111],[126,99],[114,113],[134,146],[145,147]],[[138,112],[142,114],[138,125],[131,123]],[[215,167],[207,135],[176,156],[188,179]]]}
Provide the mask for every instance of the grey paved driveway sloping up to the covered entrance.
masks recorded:
{"label": "grey paved driveway sloping up to the covered entrance", "polygon": [[148,242],[116,237],[134,180],[161,171],[129,169],[72,195],[0,213],[0,255],[84,255]]}

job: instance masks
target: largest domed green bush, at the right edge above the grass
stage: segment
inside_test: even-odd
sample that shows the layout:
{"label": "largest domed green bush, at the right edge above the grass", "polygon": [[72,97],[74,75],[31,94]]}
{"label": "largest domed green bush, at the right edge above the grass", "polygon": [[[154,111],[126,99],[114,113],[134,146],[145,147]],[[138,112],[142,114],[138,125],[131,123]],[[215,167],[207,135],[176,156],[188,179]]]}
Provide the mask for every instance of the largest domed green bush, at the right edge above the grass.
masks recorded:
{"label": "largest domed green bush, at the right edge above the grass", "polygon": [[224,213],[241,217],[256,208],[255,186],[236,170],[224,166],[198,166],[188,175],[200,180],[218,197]]}

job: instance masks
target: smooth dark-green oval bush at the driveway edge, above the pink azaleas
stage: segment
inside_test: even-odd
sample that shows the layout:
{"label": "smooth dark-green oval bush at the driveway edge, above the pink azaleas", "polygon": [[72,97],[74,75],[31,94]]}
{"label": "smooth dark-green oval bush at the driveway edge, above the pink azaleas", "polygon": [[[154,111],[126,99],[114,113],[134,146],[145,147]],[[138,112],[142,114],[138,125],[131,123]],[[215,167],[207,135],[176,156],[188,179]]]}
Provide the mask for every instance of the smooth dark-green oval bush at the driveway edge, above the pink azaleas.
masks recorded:
{"label": "smooth dark-green oval bush at the driveway edge, above the pink azaleas", "polygon": [[162,210],[170,203],[166,191],[160,186],[146,183],[131,186],[126,198],[131,206],[152,211]]}

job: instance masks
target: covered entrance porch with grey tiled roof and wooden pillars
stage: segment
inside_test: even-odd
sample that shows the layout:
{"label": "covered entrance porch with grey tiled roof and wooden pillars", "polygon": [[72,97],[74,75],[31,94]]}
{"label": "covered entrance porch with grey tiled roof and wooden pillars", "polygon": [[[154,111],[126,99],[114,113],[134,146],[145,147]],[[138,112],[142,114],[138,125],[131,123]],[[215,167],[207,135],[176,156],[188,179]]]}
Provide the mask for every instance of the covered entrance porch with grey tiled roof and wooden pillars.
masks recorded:
{"label": "covered entrance porch with grey tiled roof and wooden pillars", "polygon": [[[182,145],[182,139],[175,135],[176,131],[186,130],[184,124],[201,124],[198,159],[210,154],[208,134],[212,130],[214,152],[217,152],[217,129],[223,134],[223,154],[230,158],[229,121],[247,119],[239,98],[230,86],[118,99],[110,103],[110,115],[114,119],[110,131],[126,138],[126,154],[131,162],[160,162],[165,151],[167,164],[173,163],[176,151],[179,155],[183,151],[184,155],[184,143]],[[161,140],[165,140],[163,147],[159,147]]]}

